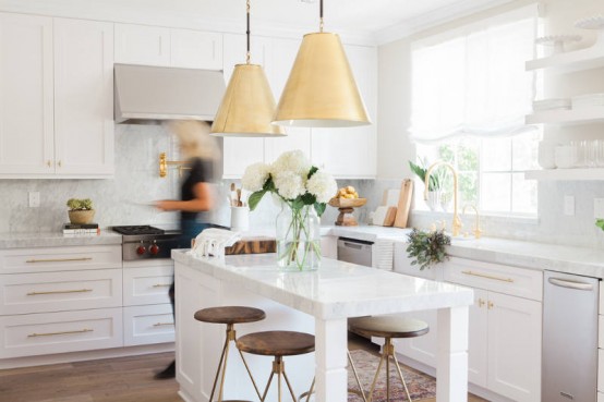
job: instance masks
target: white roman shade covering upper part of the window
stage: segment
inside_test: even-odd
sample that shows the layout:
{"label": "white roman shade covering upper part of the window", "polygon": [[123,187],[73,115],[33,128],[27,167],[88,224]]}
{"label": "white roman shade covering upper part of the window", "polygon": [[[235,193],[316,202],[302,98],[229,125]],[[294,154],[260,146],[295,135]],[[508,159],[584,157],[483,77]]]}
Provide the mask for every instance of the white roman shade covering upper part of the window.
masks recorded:
{"label": "white roman shade covering upper part of the window", "polygon": [[524,125],[535,88],[524,62],[534,58],[536,24],[536,5],[531,5],[414,42],[412,139],[535,130]]}

